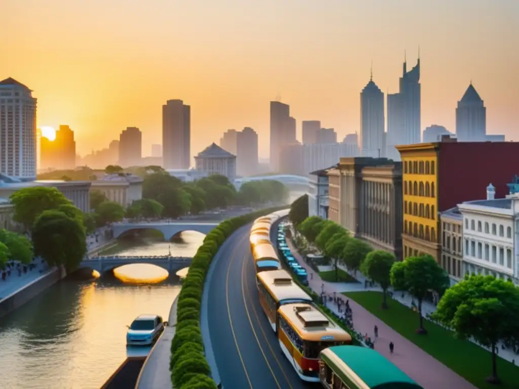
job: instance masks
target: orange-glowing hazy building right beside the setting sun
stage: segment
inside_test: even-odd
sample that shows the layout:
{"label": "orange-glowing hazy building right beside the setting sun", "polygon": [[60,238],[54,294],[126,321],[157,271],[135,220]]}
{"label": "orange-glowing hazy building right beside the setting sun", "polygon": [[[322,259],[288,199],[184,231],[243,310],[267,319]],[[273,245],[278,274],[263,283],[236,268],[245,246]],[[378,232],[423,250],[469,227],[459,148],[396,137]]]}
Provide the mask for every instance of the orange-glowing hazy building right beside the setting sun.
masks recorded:
{"label": "orange-glowing hazy building right beside the setting sun", "polygon": [[51,170],[74,170],[76,168],[76,141],[69,126],[60,125],[53,141],[42,136],[40,140],[41,166]]}

